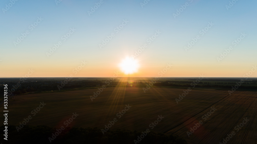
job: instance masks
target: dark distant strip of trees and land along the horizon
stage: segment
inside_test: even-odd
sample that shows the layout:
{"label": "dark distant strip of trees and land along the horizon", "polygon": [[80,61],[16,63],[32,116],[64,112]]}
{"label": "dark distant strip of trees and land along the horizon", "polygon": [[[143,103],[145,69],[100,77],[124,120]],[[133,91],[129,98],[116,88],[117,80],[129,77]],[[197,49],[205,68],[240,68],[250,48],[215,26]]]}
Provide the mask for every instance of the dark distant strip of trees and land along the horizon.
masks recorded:
{"label": "dark distant strip of trees and land along the horizon", "polygon": [[[8,84],[8,95],[21,95],[25,94],[26,92],[33,91],[57,91],[57,86],[62,85],[65,80],[65,78],[5,78],[0,79],[0,92],[2,92],[2,89],[4,87],[3,84]],[[187,81],[156,81],[154,86],[192,87],[194,84],[191,85],[191,83],[194,83],[196,80],[197,79],[187,79]],[[124,86],[124,84],[127,87],[141,87],[141,84],[147,84],[149,82],[150,81],[120,82],[117,79],[97,80],[95,78],[92,78],[90,80],[81,80],[78,78],[72,78],[65,84],[65,86],[63,86],[62,90],[74,88],[95,88],[102,87],[102,85],[105,85],[106,87],[117,87]],[[198,81],[195,87],[231,88],[232,86],[237,85],[236,83],[238,82],[240,82],[240,80],[238,79],[205,79],[204,82]],[[257,89],[256,83],[257,80],[245,80],[240,88]]]}

